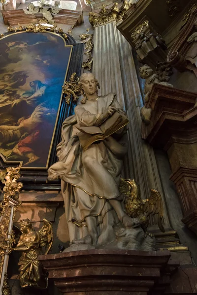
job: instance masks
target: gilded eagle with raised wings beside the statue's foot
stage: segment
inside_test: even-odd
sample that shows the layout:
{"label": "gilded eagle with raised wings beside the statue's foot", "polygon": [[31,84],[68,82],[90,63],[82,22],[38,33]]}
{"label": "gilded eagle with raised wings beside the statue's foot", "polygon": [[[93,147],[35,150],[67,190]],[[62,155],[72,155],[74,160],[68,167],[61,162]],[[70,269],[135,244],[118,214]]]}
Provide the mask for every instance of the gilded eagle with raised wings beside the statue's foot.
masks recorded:
{"label": "gilded eagle with raised wings beside the statue's foot", "polygon": [[123,179],[120,181],[120,191],[125,196],[125,209],[132,218],[138,218],[144,232],[149,226],[148,216],[158,214],[158,226],[164,233],[162,219],[164,207],[160,192],[151,189],[151,195],[148,199],[142,200],[140,197],[140,188],[134,179]]}

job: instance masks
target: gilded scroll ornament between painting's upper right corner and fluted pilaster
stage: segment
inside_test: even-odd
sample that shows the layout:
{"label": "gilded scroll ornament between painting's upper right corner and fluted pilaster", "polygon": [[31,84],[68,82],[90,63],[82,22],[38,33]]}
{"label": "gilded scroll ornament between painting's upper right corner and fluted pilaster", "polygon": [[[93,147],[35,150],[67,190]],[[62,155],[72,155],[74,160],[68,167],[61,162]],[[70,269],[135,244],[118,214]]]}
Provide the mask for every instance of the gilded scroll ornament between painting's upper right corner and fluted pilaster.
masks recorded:
{"label": "gilded scroll ornament between painting's upper right corner and fluted pilaster", "polygon": [[[86,29],[88,32],[90,29]],[[85,55],[87,56],[87,60],[85,60],[82,64],[83,68],[88,68],[88,71],[92,68],[93,63],[93,57],[92,57],[92,50],[93,50],[93,34],[81,34],[79,37],[81,38],[81,43],[86,43],[85,49],[87,51],[85,52]]]}

